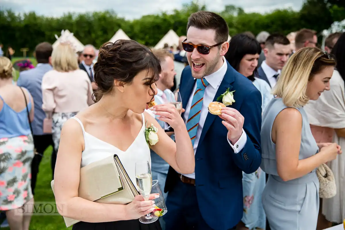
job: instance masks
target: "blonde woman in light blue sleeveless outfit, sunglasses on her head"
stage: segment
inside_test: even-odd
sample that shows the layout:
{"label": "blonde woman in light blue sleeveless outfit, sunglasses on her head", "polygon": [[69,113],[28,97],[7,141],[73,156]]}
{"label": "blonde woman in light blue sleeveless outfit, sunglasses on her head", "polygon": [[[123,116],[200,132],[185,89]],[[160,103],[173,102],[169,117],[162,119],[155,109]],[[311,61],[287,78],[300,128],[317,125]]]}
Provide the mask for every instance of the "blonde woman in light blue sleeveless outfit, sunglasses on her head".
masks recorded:
{"label": "blonde woman in light blue sleeveless outfit, sunglasses on her head", "polygon": [[315,230],[319,211],[316,169],[336,159],[336,143],[316,143],[303,106],[329,90],[336,62],[318,48],[303,48],[283,68],[266,107],[261,168],[268,176],[262,202],[272,230]]}

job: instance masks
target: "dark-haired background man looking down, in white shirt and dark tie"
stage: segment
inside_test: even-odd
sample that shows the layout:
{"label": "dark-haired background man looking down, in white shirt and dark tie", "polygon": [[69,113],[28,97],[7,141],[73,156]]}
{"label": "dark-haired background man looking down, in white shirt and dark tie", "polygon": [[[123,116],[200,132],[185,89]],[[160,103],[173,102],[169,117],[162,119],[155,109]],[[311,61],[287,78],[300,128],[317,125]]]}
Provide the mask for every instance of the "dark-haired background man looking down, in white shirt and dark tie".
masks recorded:
{"label": "dark-haired background man looking down, in white shirt and dark tie", "polygon": [[264,54],[266,60],[258,68],[255,77],[265,80],[273,88],[291,54],[289,39],[282,34],[270,35],[265,42]]}

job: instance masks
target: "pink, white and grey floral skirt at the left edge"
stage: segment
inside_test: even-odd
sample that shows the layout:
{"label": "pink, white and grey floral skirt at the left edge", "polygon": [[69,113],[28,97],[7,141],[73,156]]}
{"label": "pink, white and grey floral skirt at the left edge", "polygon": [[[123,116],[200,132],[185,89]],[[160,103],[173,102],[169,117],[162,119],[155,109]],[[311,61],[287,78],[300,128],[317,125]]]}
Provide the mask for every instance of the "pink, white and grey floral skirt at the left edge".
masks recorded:
{"label": "pink, white and grey floral skirt at the left edge", "polygon": [[33,198],[32,135],[0,139],[0,210],[20,208]]}

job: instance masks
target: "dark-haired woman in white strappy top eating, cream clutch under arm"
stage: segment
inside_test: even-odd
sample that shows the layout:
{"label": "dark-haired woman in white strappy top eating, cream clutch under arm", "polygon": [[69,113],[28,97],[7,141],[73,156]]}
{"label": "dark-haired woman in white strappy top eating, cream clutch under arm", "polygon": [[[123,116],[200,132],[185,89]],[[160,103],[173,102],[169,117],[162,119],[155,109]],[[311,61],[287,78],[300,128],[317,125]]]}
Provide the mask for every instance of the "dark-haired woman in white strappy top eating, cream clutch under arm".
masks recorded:
{"label": "dark-haired woman in white strappy top eating, cream clutch under arm", "polygon": [[81,221],[73,230],[161,229],[159,221],[139,222],[141,216],[154,210],[153,202],[144,201],[141,195],[129,204],[104,204],[78,197],[80,167],[114,154],[135,184],[135,162],[150,162],[146,121],[158,129],[159,141],[150,146],[153,151],[180,173],[192,173],[195,167],[193,147],[176,108],[172,104],[154,106],[159,119],[174,128],[176,143],[144,112],[157,93],[155,82],[161,71],[158,59],[147,47],[132,40],[107,42],[99,50],[94,70],[102,98],[69,119],[61,131],[54,177],[57,206],[67,204],[67,217]]}

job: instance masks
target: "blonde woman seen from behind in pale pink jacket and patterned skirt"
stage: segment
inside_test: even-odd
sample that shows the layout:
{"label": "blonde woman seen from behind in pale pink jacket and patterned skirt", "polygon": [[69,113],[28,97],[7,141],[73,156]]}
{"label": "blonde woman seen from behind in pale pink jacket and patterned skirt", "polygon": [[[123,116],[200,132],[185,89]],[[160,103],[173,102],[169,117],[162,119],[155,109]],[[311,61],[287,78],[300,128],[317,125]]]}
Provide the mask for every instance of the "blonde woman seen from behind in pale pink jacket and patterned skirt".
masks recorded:
{"label": "blonde woman seen from behind in pale pink jacket and patterned skirt", "polygon": [[52,118],[52,136],[58,151],[63,123],[93,104],[93,91],[88,74],[79,69],[76,52],[69,42],[53,49],[51,63],[53,70],[42,79],[42,109],[47,118]]}

